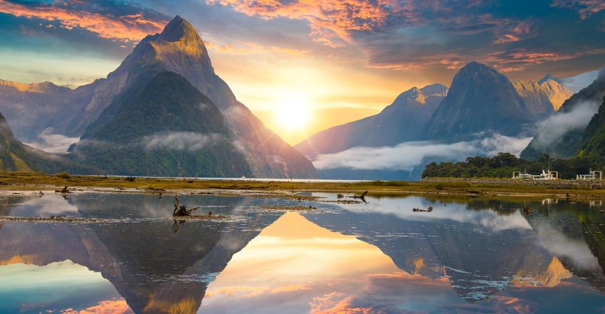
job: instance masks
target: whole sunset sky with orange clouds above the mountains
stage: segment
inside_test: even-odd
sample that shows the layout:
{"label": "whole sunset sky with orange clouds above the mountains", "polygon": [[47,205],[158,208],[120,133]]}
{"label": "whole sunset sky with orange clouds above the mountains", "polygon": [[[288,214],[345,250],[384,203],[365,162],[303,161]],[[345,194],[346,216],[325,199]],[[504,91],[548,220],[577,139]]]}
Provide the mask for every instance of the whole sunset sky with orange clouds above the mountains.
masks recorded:
{"label": "whole sunset sky with orange clouds above the mountains", "polygon": [[601,0],[0,0],[0,79],[104,78],[176,15],[238,100],[291,144],[414,86],[449,85],[469,61],[512,80],[605,66]]}

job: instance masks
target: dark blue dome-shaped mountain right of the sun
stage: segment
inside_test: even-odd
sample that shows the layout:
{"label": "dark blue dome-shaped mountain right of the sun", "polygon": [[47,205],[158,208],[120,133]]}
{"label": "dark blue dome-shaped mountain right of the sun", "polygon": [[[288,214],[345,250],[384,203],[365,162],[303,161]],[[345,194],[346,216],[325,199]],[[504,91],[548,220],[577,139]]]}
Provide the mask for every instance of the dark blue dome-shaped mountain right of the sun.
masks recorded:
{"label": "dark blue dome-shaped mountain right of the sun", "polygon": [[454,75],[448,95],[425,127],[425,136],[446,142],[470,140],[485,132],[517,136],[543,115],[528,108],[505,75],[471,62]]}

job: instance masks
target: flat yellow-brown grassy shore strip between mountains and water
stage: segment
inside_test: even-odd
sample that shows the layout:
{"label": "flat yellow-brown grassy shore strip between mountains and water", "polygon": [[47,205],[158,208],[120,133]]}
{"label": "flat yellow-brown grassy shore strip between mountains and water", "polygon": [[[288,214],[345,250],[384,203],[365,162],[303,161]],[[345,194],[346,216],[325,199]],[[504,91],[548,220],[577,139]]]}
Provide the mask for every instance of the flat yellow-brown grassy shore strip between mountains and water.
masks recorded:
{"label": "flat yellow-brown grassy shore strip between mountains and water", "polygon": [[254,179],[211,180],[180,178],[99,177],[25,172],[0,172],[0,190],[49,191],[68,186],[78,189],[109,189],[119,192],[159,193],[211,190],[214,192],[334,192],[355,194],[369,191],[369,195],[429,194],[458,197],[577,197],[605,198],[602,183],[577,182],[523,182],[498,179],[431,179],[423,182],[367,181],[367,182],[282,182]]}

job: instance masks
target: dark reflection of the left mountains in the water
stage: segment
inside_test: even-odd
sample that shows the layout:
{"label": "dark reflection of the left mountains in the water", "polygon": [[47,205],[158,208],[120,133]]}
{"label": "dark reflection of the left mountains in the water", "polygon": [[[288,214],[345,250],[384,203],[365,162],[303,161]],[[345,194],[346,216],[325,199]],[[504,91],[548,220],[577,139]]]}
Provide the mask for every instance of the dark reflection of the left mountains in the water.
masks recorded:
{"label": "dark reflection of the left mountains in the water", "polygon": [[[54,199],[56,196],[48,196]],[[46,197],[45,197],[46,198]],[[190,204],[192,197],[181,197]],[[247,202],[241,197],[197,197],[206,208],[238,215]],[[34,199],[14,206],[12,216],[42,209]],[[52,202],[52,201],[51,201]],[[63,201],[65,203],[65,201]],[[206,286],[275,215],[250,216],[243,221],[188,221],[177,234],[167,206],[172,199],[142,194],[83,194],[70,197],[78,211],[70,216],[139,217],[130,223],[22,224],[8,223],[0,230],[0,264],[38,266],[70,260],[102,274],[135,313],[195,313]],[[261,203],[262,204],[262,203]],[[258,206],[258,205],[256,205]],[[10,206],[4,206],[4,211]],[[172,209],[170,209],[172,210]],[[246,216],[246,218],[248,218]],[[26,228],[23,228],[26,226]]]}

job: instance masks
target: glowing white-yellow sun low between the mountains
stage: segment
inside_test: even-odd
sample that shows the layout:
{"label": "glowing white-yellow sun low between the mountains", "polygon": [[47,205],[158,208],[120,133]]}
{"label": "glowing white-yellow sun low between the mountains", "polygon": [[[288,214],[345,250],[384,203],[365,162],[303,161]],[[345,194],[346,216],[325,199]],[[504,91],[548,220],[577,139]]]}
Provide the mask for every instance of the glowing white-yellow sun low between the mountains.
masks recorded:
{"label": "glowing white-yellow sun low between the mountains", "polygon": [[311,104],[304,96],[293,94],[275,104],[275,122],[288,132],[304,131],[311,119]]}

